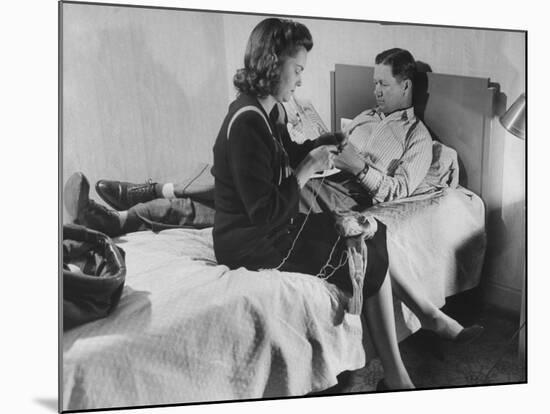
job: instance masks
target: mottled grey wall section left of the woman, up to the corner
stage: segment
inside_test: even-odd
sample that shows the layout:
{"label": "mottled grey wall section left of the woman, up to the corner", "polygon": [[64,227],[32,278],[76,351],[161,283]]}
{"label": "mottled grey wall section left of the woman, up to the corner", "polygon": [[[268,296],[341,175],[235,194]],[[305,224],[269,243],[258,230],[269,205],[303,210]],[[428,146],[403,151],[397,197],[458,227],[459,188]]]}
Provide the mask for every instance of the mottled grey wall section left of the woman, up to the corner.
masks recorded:
{"label": "mottled grey wall section left of the woman, up to the corner", "polygon": [[220,14],[64,4],[64,181],[177,180],[211,161],[225,50]]}

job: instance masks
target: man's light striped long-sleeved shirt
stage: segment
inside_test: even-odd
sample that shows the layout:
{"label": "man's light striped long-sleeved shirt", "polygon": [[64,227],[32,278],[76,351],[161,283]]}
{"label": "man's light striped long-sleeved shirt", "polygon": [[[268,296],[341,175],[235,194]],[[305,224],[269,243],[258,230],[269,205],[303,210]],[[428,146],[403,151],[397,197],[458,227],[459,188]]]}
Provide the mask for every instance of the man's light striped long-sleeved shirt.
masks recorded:
{"label": "man's light striped long-sleeved shirt", "polygon": [[369,167],[359,177],[374,203],[411,195],[426,176],[432,162],[432,138],[412,107],[388,116],[367,110],[346,130],[349,142]]}

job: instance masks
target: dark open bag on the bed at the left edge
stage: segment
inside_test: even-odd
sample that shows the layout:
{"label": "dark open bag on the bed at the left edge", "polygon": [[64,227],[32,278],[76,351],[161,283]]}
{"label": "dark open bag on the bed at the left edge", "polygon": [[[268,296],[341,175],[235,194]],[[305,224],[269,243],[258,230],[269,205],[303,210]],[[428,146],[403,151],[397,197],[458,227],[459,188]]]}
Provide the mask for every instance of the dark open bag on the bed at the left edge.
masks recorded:
{"label": "dark open bag on the bed at the left edge", "polygon": [[120,300],[124,251],[105,234],[63,226],[63,330],[107,316]]}

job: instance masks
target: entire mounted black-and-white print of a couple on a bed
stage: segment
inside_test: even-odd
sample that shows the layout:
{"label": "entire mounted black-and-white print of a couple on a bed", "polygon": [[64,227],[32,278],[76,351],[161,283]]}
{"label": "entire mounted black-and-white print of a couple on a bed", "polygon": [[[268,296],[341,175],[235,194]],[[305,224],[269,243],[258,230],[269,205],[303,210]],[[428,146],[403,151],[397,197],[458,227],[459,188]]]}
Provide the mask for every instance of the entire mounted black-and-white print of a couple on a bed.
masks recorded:
{"label": "entire mounted black-and-white print of a couple on a bed", "polygon": [[526,36],[61,2],[61,409],[525,383]]}

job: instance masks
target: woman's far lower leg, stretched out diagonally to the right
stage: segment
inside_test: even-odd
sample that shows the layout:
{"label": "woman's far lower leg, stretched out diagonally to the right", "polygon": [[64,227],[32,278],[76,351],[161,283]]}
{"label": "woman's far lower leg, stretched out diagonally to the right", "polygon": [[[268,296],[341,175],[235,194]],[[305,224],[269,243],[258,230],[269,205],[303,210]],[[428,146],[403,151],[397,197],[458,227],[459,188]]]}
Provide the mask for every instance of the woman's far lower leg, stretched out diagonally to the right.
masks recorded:
{"label": "woman's far lower leg, stretched out diagonally to the right", "polygon": [[424,329],[434,331],[443,338],[455,338],[464,327],[438,309],[428,298],[424,288],[413,277],[390,271],[394,294],[418,317]]}

